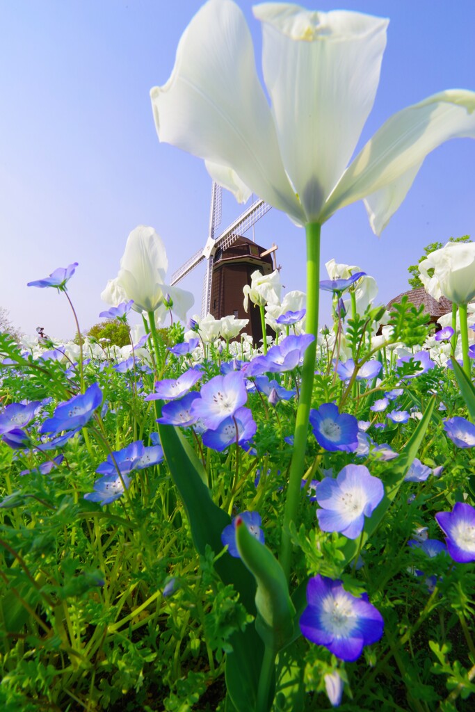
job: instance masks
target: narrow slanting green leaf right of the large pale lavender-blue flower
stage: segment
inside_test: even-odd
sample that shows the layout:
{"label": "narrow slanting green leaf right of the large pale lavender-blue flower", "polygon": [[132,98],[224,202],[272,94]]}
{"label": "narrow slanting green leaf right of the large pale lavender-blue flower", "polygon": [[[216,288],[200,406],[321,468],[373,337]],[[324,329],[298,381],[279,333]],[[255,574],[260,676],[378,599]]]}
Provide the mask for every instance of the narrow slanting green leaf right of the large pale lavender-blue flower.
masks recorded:
{"label": "narrow slanting green leaf right of the large pale lavender-blue flower", "polygon": [[417,451],[422,444],[424,435],[426,434],[427,428],[432,419],[432,413],[434,412],[435,397],[429,401],[429,405],[426,408],[424,416],[419,421],[417,428],[411,436],[411,439],[407,445],[402,450],[402,453],[397,458],[396,463],[392,466],[390,471],[385,473],[385,496],[382,501],[377,506],[375,511],[372,513],[369,519],[365,520],[365,528],[362,530],[361,537],[355,540],[348,539],[348,542],[343,547],[342,551],[345,556],[345,564],[348,565],[350,561],[357,555],[358,549],[363,547],[367,540],[375,533],[375,530],[382,522],[385,513],[390,508],[392,501],[394,501],[395,496],[400,490],[400,486],[404,481],[404,477],[412,465],[414,457],[417,455]]}

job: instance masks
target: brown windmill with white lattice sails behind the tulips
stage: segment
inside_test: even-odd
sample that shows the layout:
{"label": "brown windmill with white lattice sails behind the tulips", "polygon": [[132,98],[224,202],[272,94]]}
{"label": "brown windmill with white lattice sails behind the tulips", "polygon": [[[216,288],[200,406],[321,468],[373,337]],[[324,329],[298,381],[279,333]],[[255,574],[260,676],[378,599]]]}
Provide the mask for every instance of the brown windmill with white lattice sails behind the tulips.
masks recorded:
{"label": "brown windmill with white lattice sails behind the tulips", "polygon": [[262,337],[259,315],[244,313],[242,288],[250,283],[251,273],[259,269],[268,274],[276,269],[276,245],[270,250],[256,245],[243,235],[266,214],[271,206],[261,199],[253,201],[234,222],[216,237],[221,224],[222,188],[215,182],[212,186],[211,209],[209,211],[208,239],[204,248],[190,257],[172,274],[172,286],[187,276],[197,265],[207,260],[202,297],[202,318],[211,313],[215,318],[232,315],[236,318],[250,318],[248,332],[255,342]]}

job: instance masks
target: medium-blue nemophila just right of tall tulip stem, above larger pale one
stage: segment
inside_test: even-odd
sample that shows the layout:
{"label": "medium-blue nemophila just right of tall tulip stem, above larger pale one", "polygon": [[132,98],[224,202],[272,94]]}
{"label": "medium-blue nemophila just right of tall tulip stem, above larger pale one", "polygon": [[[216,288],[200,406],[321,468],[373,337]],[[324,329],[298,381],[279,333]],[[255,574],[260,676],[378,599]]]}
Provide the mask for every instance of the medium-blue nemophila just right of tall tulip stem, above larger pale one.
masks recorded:
{"label": "medium-blue nemophila just right of tall tulip stem, above larger pale one", "polygon": [[341,413],[334,403],[323,403],[310,410],[310,425],[318,444],[330,452],[353,452],[358,446],[358,422],[353,415]]}

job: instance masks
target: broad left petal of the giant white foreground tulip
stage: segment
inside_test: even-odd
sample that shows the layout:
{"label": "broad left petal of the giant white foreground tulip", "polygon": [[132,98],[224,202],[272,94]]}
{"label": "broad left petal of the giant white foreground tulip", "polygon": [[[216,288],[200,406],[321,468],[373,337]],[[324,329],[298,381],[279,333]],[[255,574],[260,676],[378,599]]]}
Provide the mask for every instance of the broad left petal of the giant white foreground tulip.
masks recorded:
{"label": "broad left petal of the giant white foreground tulip", "polygon": [[179,41],[172,75],[150,97],[161,141],[229,166],[256,195],[305,221],[236,4],[209,0],[199,10]]}

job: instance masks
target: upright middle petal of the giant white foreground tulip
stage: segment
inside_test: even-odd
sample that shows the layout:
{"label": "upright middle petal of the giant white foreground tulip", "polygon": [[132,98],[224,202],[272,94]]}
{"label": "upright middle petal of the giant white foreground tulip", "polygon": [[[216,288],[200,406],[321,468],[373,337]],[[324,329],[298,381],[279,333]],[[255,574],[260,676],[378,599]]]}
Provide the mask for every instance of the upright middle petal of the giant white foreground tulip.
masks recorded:
{"label": "upright middle petal of the giant white foreground tulip", "polygon": [[280,3],[254,15],[283,164],[307,220],[318,220],[374,103],[388,21]]}

